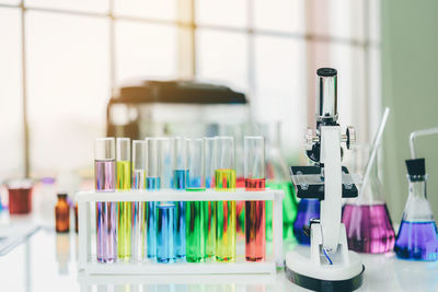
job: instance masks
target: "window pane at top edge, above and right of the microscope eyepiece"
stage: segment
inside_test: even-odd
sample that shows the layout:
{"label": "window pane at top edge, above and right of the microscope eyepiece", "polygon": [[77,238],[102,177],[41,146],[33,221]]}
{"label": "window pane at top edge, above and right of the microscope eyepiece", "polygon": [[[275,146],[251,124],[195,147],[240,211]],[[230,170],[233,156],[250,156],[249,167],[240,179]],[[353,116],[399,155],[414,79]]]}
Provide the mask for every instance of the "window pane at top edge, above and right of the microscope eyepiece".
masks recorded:
{"label": "window pane at top edge, above and right of the microscope eyepiece", "polygon": [[366,0],[310,0],[312,20],[308,32],[316,35],[364,39]]}

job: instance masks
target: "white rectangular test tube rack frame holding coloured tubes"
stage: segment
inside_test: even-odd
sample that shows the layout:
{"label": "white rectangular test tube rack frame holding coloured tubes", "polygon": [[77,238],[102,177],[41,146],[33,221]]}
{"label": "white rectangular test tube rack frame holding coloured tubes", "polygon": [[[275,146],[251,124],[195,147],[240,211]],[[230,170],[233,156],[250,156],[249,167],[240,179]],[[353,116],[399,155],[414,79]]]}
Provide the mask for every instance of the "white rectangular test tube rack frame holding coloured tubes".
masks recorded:
{"label": "white rectangular test tube rack frame holding coloured tubes", "polygon": [[[172,189],[119,190],[114,192],[80,191],[77,194],[79,219],[79,270],[85,275],[227,275],[275,273],[284,267],[283,257],[283,190],[246,191],[184,191]],[[91,218],[91,203],[96,201],[273,201],[273,254],[265,261],[246,261],[239,257],[229,262],[111,262],[102,264],[92,253],[91,232],[95,219]],[[94,257],[93,257],[94,255]]]}

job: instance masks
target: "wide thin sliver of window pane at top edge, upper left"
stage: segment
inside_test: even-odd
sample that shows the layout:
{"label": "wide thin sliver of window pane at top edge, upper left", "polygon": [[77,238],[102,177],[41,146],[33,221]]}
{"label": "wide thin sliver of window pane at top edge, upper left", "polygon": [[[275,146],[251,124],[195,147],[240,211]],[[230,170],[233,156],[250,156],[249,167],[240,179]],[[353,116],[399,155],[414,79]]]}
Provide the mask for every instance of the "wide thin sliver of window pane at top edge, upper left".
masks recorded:
{"label": "wide thin sliver of window pane at top edge, upper left", "polygon": [[28,7],[50,8],[61,10],[107,12],[108,0],[25,0]]}

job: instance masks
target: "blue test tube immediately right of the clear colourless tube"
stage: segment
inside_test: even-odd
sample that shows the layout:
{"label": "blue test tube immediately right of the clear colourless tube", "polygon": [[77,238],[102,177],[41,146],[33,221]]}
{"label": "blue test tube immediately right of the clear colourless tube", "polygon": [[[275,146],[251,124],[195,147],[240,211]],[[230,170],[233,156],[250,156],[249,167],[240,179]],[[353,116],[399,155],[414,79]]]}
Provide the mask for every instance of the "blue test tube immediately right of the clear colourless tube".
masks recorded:
{"label": "blue test tube immediately right of the clear colourless tube", "polygon": [[[148,190],[157,190],[160,189],[160,176],[158,173],[158,140],[155,138],[146,138],[147,143],[147,176],[146,176],[146,186]],[[155,201],[146,202],[146,250],[145,255],[149,259],[155,259],[157,257],[157,236],[155,236]]]}

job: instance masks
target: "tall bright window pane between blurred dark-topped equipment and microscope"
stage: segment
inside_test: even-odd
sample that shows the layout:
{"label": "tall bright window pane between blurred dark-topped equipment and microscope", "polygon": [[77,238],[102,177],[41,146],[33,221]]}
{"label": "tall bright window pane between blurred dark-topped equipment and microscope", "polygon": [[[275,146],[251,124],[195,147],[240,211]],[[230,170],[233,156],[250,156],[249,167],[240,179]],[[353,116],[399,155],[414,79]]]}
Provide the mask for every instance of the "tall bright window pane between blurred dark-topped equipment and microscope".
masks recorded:
{"label": "tall bright window pane between blurred dark-topped equipment and microscope", "polygon": [[304,42],[257,36],[255,49],[254,114],[257,119],[280,120],[283,145],[298,153],[302,141],[297,137],[307,127]]}

